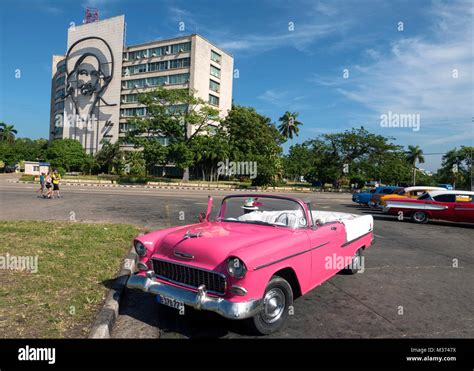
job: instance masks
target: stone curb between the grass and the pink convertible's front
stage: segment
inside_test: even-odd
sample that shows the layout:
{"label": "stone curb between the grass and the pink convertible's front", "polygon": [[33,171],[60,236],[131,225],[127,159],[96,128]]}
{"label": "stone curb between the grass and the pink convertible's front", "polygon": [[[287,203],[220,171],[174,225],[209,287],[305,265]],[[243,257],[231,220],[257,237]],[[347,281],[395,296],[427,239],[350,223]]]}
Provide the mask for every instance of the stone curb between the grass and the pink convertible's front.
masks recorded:
{"label": "stone curb between the grass and the pink convertible's front", "polygon": [[137,255],[132,247],[105,298],[104,305],[97,315],[89,332],[89,339],[110,339],[110,334],[119,313],[119,304],[127,284],[128,277],[135,271]]}

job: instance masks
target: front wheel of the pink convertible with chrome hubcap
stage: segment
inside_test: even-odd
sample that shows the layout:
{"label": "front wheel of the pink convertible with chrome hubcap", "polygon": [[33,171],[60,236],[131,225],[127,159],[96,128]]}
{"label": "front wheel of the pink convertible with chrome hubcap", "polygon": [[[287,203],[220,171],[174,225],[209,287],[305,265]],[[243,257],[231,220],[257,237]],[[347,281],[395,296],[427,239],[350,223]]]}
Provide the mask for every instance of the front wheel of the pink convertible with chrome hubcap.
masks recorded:
{"label": "front wheel of the pink convertible with chrome hubcap", "polygon": [[265,288],[263,309],[248,319],[250,328],[260,334],[269,335],[280,330],[289,316],[293,306],[293,290],[285,279],[273,276]]}

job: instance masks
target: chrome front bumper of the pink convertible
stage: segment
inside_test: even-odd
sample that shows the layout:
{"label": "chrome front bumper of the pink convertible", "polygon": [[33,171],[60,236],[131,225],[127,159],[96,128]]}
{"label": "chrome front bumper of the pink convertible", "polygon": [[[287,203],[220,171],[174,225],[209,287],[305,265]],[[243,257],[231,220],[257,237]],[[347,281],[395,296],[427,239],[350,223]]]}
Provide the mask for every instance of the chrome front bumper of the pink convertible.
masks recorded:
{"label": "chrome front bumper of the pink convertible", "polygon": [[262,300],[231,302],[207,295],[206,289],[202,287],[198,289],[198,292],[193,292],[138,274],[130,276],[127,287],[129,289],[140,289],[152,295],[162,295],[198,310],[216,312],[228,319],[250,318],[263,309]]}

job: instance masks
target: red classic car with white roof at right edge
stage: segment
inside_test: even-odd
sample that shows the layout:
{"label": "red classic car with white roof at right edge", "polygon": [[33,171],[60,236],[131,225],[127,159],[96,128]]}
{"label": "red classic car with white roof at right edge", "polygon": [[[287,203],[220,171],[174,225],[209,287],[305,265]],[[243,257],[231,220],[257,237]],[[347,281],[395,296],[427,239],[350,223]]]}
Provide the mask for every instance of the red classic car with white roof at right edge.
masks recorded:
{"label": "red classic car with white roof at right edge", "polygon": [[429,191],[418,199],[389,199],[383,210],[390,215],[401,212],[415,223],[426,223],[429,219],[474,223],[473,200],[471,191]]}

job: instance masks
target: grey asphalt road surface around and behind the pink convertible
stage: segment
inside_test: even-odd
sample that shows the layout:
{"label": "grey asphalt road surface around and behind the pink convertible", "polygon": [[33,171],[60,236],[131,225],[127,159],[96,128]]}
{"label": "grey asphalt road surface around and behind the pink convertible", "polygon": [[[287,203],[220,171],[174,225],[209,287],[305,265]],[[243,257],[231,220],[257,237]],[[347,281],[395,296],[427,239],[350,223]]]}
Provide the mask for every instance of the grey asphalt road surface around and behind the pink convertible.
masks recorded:
{"label": "grey asphalt road surface around and behind the pink convertible", "polygon": [[[64,198],[37,197],[36,186],[0,177],[0,220],[41,219],[134,223],[147,230],[193,223],[206,191],[64,186]],[[215,204],[228,192],[213,191]],[[364,214],[349,195],[298,194],[323,210]],[[379,213],[376,244],[365,272],[339,274],[295,301],[275,338],[474,337],[474,226],[415,225]],[[456,267],[457,263],[457,267]],[[214,313],[185,315],[152,296],[126,291],[113,330],[117,338],[251,336],[238,321]]]}

